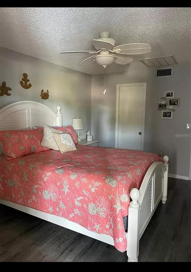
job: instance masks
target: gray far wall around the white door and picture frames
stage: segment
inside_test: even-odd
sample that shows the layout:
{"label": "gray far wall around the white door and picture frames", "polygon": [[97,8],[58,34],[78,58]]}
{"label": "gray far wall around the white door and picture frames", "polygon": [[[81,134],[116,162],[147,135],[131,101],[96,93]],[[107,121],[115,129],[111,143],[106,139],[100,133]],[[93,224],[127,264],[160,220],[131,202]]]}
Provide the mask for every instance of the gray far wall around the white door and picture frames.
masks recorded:
{"label": "gray far wall around the white door and picture frames", "polygon": [[[147,82],[144,150],[158,153],[161,150],[170,157],[170,173],[189,176],[190,138],[174,137],[176,133],[190,133],[190,63],[173,67],[173,77],[155,78],[155,68],[142,64],[130,64],[126,72],[106,75],[107,93],[103,95],[104,75],[92,76],[93,138],[100,146],[115,147],[116,84]],[[157,104],[165,90],[175,90],[181,98],[173,119],[161,119]]]}

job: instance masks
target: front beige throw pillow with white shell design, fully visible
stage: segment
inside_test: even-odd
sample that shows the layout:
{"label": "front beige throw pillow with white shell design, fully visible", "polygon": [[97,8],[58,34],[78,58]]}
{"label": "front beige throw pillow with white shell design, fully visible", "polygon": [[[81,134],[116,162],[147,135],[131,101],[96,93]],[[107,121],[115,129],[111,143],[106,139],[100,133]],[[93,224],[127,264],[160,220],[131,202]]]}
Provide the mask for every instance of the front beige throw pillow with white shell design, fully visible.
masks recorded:
{"label": "front beige throw pillow with white shell design, fully visible", "polygon": [[77,150],[69,133],[53,132],[52,134],[61,153]]}

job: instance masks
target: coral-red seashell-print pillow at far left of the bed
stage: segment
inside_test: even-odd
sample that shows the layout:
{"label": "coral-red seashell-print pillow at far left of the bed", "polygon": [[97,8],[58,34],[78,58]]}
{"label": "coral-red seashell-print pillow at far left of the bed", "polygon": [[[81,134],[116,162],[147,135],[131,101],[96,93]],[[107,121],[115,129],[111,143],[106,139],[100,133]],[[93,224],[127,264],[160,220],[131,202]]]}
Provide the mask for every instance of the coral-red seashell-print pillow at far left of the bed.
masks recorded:
{"label": "coral-red seashell-print pillow at far left of the bed", "polygon": [[38,153],[49,148],[41,146],[43,130],[2,130],[0,131],[1,149],[7,160]]}

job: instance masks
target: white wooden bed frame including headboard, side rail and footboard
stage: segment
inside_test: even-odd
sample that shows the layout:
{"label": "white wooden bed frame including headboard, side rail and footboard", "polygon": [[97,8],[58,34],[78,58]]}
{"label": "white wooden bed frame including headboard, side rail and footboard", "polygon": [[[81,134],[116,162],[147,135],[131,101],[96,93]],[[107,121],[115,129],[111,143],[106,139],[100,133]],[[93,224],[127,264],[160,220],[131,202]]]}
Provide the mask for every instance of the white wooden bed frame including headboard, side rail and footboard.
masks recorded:
{"label": "white wooden bed frame including headboard, side rail and footboard", "polygon": [[[21,129],[33,125],[62,126],[60,106],[53,112],[44,104],[35,101],[21,101],[7,105],[0,109],[0,130]],[[164,163],[154,162],[144,176],[140,189],[133,188],[130,192],[132,201],[128,211],[127,256],[128,262],[138,262],[139,240],[144,233],[158,203],[167,201],[168,185],[168,161],[169,157],[163,157]],[[27,214],[42,218],[64,228],[87,235],[110,245],[114,245],[113,238],[107,234],[98,234],[86,228],[56,215],[47,214],[6,200],[0,200],[0,204],[7,205]]]}

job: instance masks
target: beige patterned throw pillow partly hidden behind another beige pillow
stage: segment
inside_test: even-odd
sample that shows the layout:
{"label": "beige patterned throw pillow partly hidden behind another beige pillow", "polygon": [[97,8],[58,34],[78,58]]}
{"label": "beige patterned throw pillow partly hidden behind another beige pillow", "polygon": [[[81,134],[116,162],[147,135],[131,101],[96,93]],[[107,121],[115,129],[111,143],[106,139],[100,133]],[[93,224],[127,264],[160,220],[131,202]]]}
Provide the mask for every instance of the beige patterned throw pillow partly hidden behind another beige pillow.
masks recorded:
{"label": "beige patterned throw pillow partly hidden behind another beige pillow", "polygon": [[53,137],[53,132],[55,133],[63,133],[62,131],[58,129],[53,129],[50,126],[44,125],[43,126],[44,131],[43,131],[43,138],[41,141],[41,146],[48,147],[54,150],[59,150],[54,137]]}

